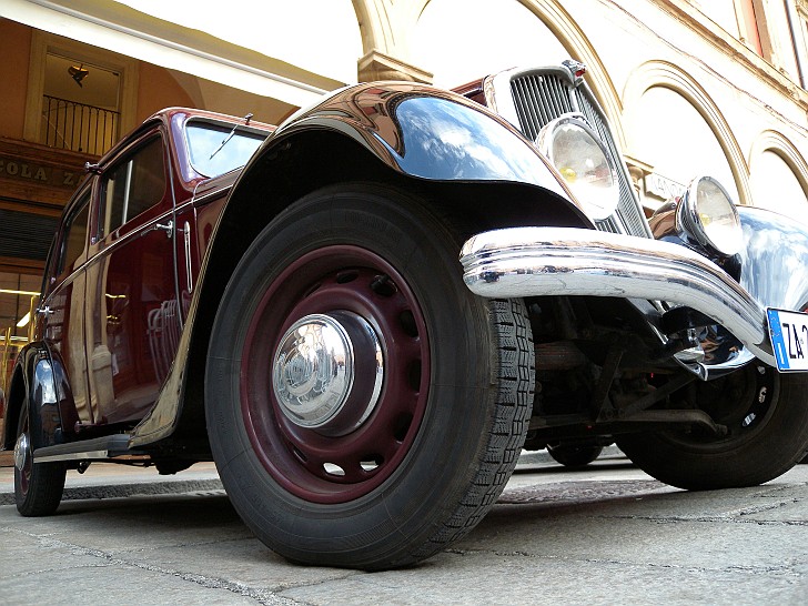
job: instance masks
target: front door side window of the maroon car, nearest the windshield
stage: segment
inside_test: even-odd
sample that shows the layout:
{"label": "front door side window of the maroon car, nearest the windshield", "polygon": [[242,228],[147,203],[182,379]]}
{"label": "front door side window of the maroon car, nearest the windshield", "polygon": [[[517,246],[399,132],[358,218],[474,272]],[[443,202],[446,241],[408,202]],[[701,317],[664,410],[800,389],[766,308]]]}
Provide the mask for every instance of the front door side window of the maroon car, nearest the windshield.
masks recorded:
{"label": "front door side window of the maroon car, nearest the windshield", "polygon": [[108,171],[101,192],[99,238],[159,203],[165,194],[162,139],[152,138]]}

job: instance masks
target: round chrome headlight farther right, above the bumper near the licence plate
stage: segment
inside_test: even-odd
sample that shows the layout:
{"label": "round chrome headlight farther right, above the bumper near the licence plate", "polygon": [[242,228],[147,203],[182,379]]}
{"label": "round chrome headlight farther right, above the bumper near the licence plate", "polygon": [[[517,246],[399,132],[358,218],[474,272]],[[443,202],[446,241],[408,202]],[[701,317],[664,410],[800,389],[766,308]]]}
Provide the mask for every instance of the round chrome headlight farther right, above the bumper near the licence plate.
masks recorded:
{"label": "round chrome headlight farther right, above the bumper near the licence plate", "polygon": [[681,196],[676,224],[684,232],[718,254],[731,256],[744,243],[738,210],[724,186],[711,176],[695,179]]}

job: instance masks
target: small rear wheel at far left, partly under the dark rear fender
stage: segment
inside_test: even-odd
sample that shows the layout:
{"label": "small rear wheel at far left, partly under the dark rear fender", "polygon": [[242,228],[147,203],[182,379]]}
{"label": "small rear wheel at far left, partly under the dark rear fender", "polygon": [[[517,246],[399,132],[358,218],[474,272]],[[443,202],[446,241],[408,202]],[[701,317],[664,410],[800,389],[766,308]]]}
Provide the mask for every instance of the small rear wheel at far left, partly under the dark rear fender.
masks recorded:
{"label": "small rear wheel at far left, partly under the dark rear fender", "polygon": [[14,448],[14,501],[23,516],[51,515],[64,492],[63,463],[33,463],[28,403],[20,411]]}

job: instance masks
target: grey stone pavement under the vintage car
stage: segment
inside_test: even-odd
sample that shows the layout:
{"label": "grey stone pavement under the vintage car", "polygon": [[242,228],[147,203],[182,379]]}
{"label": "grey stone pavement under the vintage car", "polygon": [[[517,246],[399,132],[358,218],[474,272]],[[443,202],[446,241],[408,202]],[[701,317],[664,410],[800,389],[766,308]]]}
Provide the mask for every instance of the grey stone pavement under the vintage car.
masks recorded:
{"label": "grey stone pavement under the vintage car", "polygon": [[[10,472],[0,469],[1,494]],[[467,537],[373,574],[270,552],[210,464],[169,477],[109,464],[74,475],[68,488],[90,492],[69,493],[78,498],[54,516],[0,506],[3,603],[808,604],[806,465],[764,486],[688,493],[619,453],[580,472],[524,455]],[[113,486],[131,496],[102,498]]]}

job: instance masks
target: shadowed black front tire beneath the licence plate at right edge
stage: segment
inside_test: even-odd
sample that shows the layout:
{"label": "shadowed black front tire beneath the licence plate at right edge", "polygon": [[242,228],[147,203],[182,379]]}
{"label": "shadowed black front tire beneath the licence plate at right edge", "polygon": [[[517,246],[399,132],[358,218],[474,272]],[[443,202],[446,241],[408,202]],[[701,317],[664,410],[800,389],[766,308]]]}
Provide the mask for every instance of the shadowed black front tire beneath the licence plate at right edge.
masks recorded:
{"label": "shadowed black front tire beneath the licence plate at right edge", "polygon": [[790,469],[808,450],[808,375],[762,364],[697,382],[671,396],[674,407],[705,410],[726,436],[690,431],[635,434],[617,445],[657,479],[691,491],[756,486]]}

